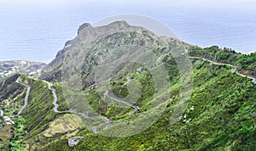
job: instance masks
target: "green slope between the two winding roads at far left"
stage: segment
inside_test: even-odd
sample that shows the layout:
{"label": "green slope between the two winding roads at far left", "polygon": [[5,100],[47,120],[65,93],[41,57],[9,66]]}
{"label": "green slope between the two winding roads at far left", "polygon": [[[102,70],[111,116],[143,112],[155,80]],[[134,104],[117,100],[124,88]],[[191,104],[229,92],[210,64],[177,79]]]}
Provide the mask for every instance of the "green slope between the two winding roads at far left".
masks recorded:
{"label": "green slope between the two winding roads at far left", "polygon": [[50,120],[55,118],[52,104],[53,96],[48,85],[43,81],[34,81],[26,76],[20,76],[20,81],[32,87],[28,105],[20,116],[25,119],[24,131],[26,131],[26,135],[23,140],[26,140],[30,147],[42,145],[45,140],[38,134],[47,128]]}

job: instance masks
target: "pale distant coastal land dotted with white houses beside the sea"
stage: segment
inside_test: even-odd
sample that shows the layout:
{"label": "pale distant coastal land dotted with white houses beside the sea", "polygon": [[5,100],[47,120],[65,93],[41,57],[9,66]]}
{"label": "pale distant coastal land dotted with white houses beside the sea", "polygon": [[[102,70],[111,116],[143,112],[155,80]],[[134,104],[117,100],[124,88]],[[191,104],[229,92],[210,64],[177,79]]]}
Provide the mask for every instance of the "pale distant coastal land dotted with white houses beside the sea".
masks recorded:
{"label": "pale distant coastal land dotted with white houses beside the sea", "polygon": [[4,79],[8,76],[20,74],[28,74],[36,76],[41,73],[41,70],[46,64],[29,61],[1,61],[0,62],[0,79]]}

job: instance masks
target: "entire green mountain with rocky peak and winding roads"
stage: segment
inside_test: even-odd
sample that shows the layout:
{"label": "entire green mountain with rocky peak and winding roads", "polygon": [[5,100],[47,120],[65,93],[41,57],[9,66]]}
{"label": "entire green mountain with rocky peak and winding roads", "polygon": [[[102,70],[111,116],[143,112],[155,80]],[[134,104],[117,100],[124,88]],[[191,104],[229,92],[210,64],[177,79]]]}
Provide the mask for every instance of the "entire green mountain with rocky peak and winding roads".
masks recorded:
{"label": "entire green mountain with rocky peak and winding roads", "polygon": [[254,56],[86,23],[39,79],[0,82],[0,148],[253,150]]}

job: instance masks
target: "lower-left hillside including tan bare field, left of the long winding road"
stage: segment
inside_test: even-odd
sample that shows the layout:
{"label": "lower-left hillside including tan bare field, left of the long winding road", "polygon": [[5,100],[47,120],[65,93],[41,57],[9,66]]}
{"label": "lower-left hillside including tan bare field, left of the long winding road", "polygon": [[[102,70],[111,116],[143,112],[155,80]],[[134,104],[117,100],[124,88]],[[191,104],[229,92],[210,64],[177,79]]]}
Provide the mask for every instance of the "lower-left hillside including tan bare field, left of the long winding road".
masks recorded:
{"label": "lower-left hillside including tan bare field, left of the long winding road", "polygon": [[[18,78],[19,82],[17,82]],[[3,114],[15,122],[9,125],[2,121],[0,149],[23,150],[26,148],[34,150],[60,137],[67,138],[70,133],[77,132],[77,129],[81,127],[79,116],[55,113],[53,109],[54,96],[49,90],[47,82],[34,80],[25,75],[15,75],[0,84],[2,85],[0,87],[2,97],[0,110],[3,110]],[[24,105],[26,87],[23,85],[31,87],[27,106],[19,116],[15,116]],[[57,89],[57,92],[59,93],[60,90]],[[59,94],[61,96],[61,92]],[[65,100],[62,102],[61,97],[58,103],[65,106]],[[77,124],[73,125],[73,123]],[[56,126],[56,124],[59,125]],[[60,124],[62,124],[62,128]]]}

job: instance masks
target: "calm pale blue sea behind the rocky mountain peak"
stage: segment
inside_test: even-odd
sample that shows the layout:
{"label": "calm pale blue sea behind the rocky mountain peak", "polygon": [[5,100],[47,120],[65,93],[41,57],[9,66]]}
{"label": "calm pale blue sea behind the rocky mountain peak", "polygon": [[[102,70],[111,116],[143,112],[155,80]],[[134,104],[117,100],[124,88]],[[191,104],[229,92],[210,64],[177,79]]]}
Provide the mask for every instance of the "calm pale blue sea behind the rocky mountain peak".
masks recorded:
{"label": "calm pale blue sea behind the rocky mountain peak", "polygon": [[256,50],[256,11],[241,8],[1,8],[0,60],[49,63],[79,25],[114,14],[143,14],[160,20],[183,41],[218,45],[241,53]]}

